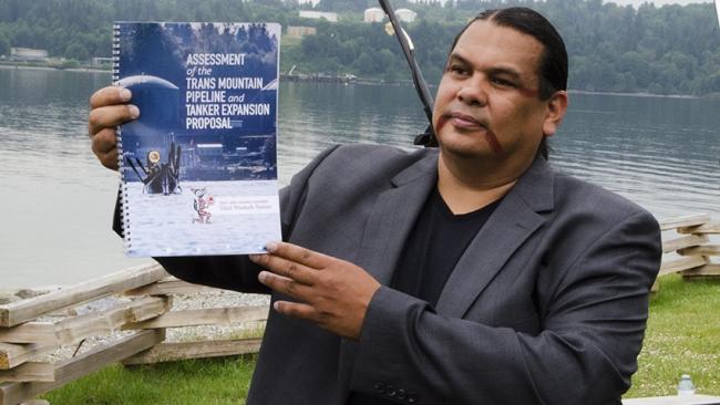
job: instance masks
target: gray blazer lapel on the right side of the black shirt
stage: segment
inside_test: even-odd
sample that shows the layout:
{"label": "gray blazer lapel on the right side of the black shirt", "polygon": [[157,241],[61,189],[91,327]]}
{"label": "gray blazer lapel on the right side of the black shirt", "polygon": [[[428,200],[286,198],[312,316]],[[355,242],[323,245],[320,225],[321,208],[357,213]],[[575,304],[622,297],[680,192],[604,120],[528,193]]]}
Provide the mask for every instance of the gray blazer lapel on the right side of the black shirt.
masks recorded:
{"label": "gray blazer lapel on the right side of the black shirt", "polygon": [[517,250],[545,219],[539,211],[553,209],[553,174],[544,158],[505,195],[453,269],[438,301],[440,314],[462,318]]}

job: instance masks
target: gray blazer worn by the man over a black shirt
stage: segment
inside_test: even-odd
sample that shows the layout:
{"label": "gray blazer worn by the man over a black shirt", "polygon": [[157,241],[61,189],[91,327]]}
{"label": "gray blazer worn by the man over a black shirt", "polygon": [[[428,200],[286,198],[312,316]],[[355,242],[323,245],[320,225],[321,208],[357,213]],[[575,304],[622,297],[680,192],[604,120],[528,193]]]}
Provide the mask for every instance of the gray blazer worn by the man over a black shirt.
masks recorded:
{"label": "gray blazer worn by the man over a black shirt", "polygon": [[[432,308],[384,285],[436,164],[434,149],[335,147],[282,189],[286,240],[354,262],[383,287],[359,342],[270,311],[248,404],[346,404],[351,392],[410,404],[620,404],[659,269],[654,217],[537,158]],[[158,261],[191,282],[267,292],[245,257]]]}

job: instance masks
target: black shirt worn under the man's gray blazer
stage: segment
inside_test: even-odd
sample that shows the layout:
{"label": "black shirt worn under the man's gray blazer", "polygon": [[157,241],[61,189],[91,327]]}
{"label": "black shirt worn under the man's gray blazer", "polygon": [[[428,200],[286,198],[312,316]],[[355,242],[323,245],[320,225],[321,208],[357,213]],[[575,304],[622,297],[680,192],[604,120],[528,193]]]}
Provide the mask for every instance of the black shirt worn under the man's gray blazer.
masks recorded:
{"label": "black shirt worn under the man's gray blazer", "polygon": [[[454,215],[435,188],[405,241],[390,287],[436,305],[453,268],[498,204],[500,200],[472,212]],[[352,393],[348,404],[391,405],[395,402]]]}

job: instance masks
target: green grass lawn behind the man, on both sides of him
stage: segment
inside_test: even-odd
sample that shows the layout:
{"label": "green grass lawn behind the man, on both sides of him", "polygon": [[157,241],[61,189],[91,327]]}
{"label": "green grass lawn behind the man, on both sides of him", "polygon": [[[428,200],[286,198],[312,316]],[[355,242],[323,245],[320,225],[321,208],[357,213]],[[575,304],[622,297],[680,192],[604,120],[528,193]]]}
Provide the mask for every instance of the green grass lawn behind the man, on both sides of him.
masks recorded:
{"label": "green grass lawn behind the man, on both sides of him", "polygon": [[[626,397],[675,395],[680,374],[700,394],[720,395],[720,282],[660,279],[639,371]],[[51,404],[245,404],[254,356],[120,365],[44,396]]]}

